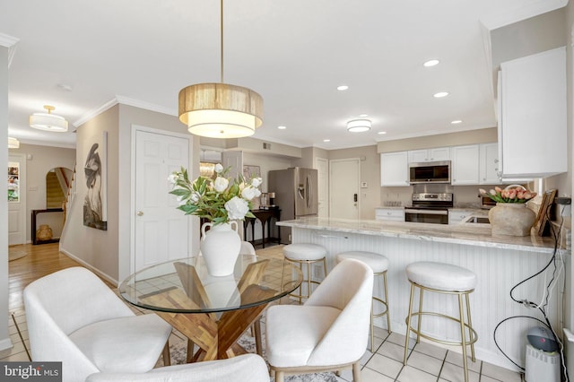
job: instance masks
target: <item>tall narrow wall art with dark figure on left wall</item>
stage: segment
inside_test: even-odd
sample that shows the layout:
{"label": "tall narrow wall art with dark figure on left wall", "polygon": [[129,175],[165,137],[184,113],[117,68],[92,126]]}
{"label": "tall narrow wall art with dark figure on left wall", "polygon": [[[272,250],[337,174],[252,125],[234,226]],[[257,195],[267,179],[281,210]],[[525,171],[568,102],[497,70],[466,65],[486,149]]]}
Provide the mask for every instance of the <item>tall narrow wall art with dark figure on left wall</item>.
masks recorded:
{"label": "tall narrow wall art with dark figure on left wall", "polygon": [[91,143],[83,173],[86,182],[86,195],[83,200],[83,225],[98,230],[108,230],[107,213],[107,143],[108,134],[103,132]]}

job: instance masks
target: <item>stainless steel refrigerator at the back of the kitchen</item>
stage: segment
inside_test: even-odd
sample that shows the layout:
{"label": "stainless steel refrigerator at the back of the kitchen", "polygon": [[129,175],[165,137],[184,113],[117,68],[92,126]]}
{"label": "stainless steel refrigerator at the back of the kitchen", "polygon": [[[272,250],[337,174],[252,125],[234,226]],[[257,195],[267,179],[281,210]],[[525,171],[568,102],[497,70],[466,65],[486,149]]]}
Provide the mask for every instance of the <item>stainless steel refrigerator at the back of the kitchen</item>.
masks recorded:
{"label": "stainless steel refrigerator at the back of the kitchen", "polygon": [[[274,204],[281,209],[282,221],[317,216],[317,169],[274,169],[267,182],[267,190],[275,193]],[[291,227],[281,227],[281,243],[291,243]]]}

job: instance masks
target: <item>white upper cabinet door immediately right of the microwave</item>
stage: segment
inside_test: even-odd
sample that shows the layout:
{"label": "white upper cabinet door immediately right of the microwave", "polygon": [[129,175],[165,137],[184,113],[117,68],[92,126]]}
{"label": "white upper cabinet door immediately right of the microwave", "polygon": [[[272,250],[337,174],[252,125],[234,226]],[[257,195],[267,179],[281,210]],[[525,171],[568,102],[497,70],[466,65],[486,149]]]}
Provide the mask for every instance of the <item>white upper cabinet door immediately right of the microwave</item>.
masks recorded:
{"label": "white upper cabinet door immediately right of the microwave", "polygon": [[453,186],[477,185],[479,183],[478,144],[454,146],[450,150],[451,184]]}

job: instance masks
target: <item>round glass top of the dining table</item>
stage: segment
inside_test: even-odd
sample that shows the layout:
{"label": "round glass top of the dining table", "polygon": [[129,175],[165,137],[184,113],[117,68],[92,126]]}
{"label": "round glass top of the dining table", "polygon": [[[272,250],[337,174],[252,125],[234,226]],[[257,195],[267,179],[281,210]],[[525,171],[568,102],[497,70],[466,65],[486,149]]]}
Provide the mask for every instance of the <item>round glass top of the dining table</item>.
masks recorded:
{"label": "round glass top of the dining table", "polygon": [[254,307],[297,289],[299,267],[274,258],[239,255],[234,273],[211,276],[203,256],[152,265],[119,286],[126,301],[140,308],[172,313],[212,313]]}

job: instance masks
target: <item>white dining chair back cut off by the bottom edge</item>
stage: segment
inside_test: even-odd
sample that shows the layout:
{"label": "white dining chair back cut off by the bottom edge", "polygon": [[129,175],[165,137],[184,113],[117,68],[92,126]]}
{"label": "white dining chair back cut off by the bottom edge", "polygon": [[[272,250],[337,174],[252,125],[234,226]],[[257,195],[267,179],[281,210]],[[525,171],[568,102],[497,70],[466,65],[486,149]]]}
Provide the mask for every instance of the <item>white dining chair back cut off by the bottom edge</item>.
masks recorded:
{"label": "white dining chair back cut off by the bottom edge", "polygon": [[269,382],[265,360],[257,354],[243,354],[229,360],[174,365],[146,373],[95,373],[86,382]]}

